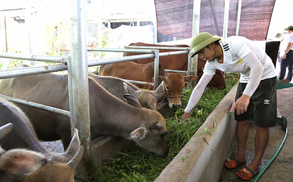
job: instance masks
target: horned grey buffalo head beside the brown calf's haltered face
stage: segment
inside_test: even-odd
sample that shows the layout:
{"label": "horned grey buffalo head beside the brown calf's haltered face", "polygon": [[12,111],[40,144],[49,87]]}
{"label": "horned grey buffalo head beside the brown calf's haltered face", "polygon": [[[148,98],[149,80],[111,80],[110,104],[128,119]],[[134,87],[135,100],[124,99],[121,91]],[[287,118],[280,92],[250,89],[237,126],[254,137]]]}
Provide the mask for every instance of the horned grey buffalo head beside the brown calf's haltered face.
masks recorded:
{"label": "horned grey buffalo head beside the brown calf's haltered face", "polygon": [[[155,91],[139,89],[134,91],[129,85],[123,83],[125,90],[134,96],[137,96],[139,103],[144,108],[156,108],[158,100],[163,97],[163,83],[161,83]],[[151,105],[151,107],[149,106]]]}

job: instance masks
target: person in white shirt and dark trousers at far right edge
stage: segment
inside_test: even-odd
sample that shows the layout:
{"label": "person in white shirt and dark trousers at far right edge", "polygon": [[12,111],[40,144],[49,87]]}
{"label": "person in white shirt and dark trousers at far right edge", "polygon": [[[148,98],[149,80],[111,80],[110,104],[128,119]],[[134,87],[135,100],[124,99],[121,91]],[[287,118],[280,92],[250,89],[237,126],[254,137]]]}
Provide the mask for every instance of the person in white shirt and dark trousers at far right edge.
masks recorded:
{"label": "person in white shirt and dark trousers at far right edge", "polygon": [[[282,56],[281,61],[281,69],[280,69],[280,83],[288,83],[292,80],[292,74],[293,74],[293,26],[290,25],[289,27],[285,28],[284,30],[288,31],[289,37],[287,39],[287,47],[285,52]],[[282,53],[281,53],[282,54]],[[284,79],[286,68],[288,67],[288,75],[287,78]]]}

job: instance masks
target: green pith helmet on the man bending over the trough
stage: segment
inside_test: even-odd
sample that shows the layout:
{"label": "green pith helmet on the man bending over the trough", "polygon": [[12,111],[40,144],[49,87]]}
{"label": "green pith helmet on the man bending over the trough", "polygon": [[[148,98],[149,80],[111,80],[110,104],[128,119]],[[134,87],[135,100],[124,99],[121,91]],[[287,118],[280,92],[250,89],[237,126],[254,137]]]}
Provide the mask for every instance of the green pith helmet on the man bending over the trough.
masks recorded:
{"label": "green pith helmet on the man bending over the trough", "polygon": [[191,39],[190,43],[190,48],[191,48],[191,53],[190,57],[193,57],[198,54],[198,52],[204,48],[205,46],[211,44],[214,41],[220,40],[220,37],[217,36],[212,36],[208,32],[202,32],[197,34]]}

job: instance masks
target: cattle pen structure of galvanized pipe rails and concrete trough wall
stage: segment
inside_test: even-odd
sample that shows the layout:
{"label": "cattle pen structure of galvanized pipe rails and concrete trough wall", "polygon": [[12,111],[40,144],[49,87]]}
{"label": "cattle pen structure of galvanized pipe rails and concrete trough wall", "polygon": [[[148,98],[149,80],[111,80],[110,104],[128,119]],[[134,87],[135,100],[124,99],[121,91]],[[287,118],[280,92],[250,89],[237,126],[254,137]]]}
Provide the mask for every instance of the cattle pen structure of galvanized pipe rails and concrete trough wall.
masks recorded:
{"label": "cattle pen structure of galvanized pipe rails and concrete trough wall", "polygon": [[[101,164],[105,159],[115,156],[113,150],[122,150],[125,146],[130,145],[129,141],[121,140],[112,136],[102,136],[91,141],[90,138],[90,121],[89,121],[89,100],[88,100],[88,67],[117,63],[142,58],[155,58],[155,80],[154,86],[158,86],[157,69],[160,56],[171,54],[189,53],[189,49],[178,49],[176,52],[159,53],[158,47],[146,49],[108,49],[108,48],[87,48],[85,23],[86,15],[84,1],[70,1],[71,4],[71,55],[70,56],[43,56],[34,54],[16,54],[16,53],[0,53],[2,58],[24,59],[31,61],[45,61],[59,63],[57,65],[36,66],[30,68],[18,68],[14,70],[1,70],[0,79],[19,77],[30,74],[42,74],[48,72],[57,72],[68,70],[68,86],[69,86],[69,111],[52,108],[37,103],[31,103],[27,100],[19,100],[6,96],[14,102],[30,105],[50,112],[65,115],[70,118],[71,133],[74,127],[79,130],[81,144],[85,147],[84,160],[79,167],[76,181],[87,181],[88,179],[88,163],[89,158],[93,157],[96,165]],[[173,48],[174,49],[174,48]],[[103,60],[87,60],[87,51],[114,51],[114,52],[140,52],[144,55],[127,56],[124,58],[111,58]],[[196,62],[195,62],[196,63]],[[189,61],[188,71],[196,73],[196,65]],[[129,80],[130,81],[130,80]],[[135,82],[139,84],[149,84]],[[194,134],[194,137],[185,145],[184,148],[176,155],[172,162],[162,171],[157,182],[170,181],[217,181],[222,170],[222,161],[229,153],[229,149],[234,139],[235,122],[232,115],[228,114],[228,110],[234,102],[236,86],[231,89],[229,94],[221,101],[217,108],[207,118],[205,123]],[[220,113],[220,114],[219,114]],[[83,121],[83,122],[80,122]],[[201,134],[204,128],[214,128],[209,133]],[[227,131],[229,129],[229,132]],[[228,147],[222,148],[223,145]],[[230,147],[229,147],[230,146]],[[108,148],[108,149],[107,149]],[[91,155],[91,150],[94,152]],[[216,152],[217,151],[217,152]],[[188,157],[187,157],[188,156]],[[182,158],[186,160],[182,161]],[[208,162],[207,162],[208,161]]]}

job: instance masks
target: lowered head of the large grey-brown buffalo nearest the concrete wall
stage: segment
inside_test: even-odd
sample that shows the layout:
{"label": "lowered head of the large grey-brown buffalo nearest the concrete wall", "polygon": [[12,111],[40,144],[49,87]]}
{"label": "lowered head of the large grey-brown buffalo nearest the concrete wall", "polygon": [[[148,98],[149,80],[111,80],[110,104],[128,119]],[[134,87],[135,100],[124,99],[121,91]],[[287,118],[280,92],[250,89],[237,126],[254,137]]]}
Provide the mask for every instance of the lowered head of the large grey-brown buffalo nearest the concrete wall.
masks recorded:
{"label": "lowered head of the large grey-brown buffalo nearest the concrete wall", "polygon": [[[145,108],[143,108],[145,109]],[[163,116],[154,110],[148,110],[151,121],[145,121],[134,129],[129,137],[145,150],[157,156],[166,157],[169,149],[166,140],[167,128]]]}

